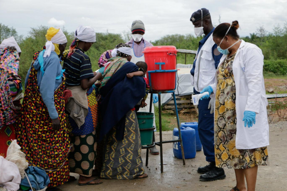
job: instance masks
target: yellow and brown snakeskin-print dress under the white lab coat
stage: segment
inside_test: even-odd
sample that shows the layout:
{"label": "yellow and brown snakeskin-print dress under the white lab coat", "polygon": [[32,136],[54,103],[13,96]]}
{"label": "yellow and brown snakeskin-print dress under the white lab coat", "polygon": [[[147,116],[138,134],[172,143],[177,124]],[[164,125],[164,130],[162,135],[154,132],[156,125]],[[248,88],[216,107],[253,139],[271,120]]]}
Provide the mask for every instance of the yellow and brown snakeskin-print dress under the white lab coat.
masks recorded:
{"label": "yellow and brown snakeskin-print dress under the white lab coat", "polygon": [[[217,70],[214,112],[214,151],[217,167],[246,169],[268,165],[267,147],[236,149],[236,89],[232,63],[236,54],[226,57]],[[242,119],[239,119],[242,120]],[[246,127],[247,128],[247,127]],[[252,128],[252,127],[251,127]]]}

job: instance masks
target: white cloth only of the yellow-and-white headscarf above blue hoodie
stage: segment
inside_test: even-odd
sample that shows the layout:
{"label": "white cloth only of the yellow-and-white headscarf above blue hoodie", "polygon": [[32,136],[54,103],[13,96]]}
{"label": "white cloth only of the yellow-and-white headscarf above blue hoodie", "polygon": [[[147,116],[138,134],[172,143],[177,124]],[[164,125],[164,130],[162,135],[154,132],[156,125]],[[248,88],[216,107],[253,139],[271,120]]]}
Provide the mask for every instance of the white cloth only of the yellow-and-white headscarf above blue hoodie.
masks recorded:
{"label": "white cloth only of the yellow-and-white headscarf above blue hoodie", "polygon": [[[60,29],[60,28],[56,28],[56,29]],[[45,46],[46,46],[46,50],[44,52],[44,55],[43,57],[46,57],[46,56],[50,56],[51,54],[51,51],[54,51],[55,50],[55,46],[54,44],[65,44],[67,43],[67,38],[65,36],[65,34],[63,33],[63,31],[60,29],[57,34],[55,34],[55,36],[53,36],[51,38],[51,41],[47,41]],[[54,44],[53,44],[54,43]]]}

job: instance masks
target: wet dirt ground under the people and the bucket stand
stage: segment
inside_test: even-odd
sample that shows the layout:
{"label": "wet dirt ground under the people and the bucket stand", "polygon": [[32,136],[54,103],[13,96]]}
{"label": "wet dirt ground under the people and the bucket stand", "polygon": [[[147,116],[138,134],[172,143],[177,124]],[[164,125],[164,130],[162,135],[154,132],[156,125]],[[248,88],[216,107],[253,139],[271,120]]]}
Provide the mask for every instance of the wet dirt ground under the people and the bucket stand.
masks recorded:
{"label": "wet dirt ground under the people and the bucket stand", "polygon": [[[270,124],[270,145],[268,148],[269,166],[259,166],[256,190],[286,190],[287,188],[287,122]],[[156,139],[159,140],[158,132]],[[163,132],[163,140],[172,139],[172,132]],[[159,147],[157,147],[159,149]],[[146,150],[142,151],[145,164]],[[186,159],[184,166],[182,160],[173,156],[172,144],[163,146],[164,173],[160,173],[160,156],[149,155],[149,165],[145,167],[149,175],[145,179],[137,180],[103,180],[103,184],[95,186],[78,186],[77,182],[60,186],[62,190],[230,190],[236,185],[233,169],[225,169],[226,178],[213,182],[199,181],[197,173],[199,166],[206,165],[203,151],[196,153],[194,159]],[[76,174],[73,174],[76,175]]]}

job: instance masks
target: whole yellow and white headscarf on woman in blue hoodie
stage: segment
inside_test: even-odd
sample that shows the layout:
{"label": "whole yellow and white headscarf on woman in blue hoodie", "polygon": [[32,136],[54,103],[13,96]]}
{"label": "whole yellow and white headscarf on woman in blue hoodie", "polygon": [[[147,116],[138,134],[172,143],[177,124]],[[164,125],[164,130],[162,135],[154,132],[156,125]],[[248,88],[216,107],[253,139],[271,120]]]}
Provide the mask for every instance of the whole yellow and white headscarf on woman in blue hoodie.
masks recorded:
{"label": "whole yellow and white headscarf on woman in blue hoodie", "polygon": [[47,34],[46,34],[46,50],[44,52],[44,56],[50,56],[51,51],[55,51],[58,55],[60,54],[60,50],[59,50],[59,44],[65,44],[67,43],[67,38],[65,36],[65,34],[63,33],[63,31],[60,28],[54,28],[54,27],[50,27],[47,30]]}

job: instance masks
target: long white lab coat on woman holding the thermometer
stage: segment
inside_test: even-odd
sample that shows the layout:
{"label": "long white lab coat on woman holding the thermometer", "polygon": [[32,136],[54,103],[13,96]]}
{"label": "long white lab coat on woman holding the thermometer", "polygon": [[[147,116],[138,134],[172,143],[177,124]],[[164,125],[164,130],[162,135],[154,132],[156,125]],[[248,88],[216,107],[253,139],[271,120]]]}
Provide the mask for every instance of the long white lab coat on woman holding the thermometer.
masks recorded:
{"label": "long white lab coat on woman holding the thermometer", "polygon": [[[222,56],[218,68],[226,56]],[[269,124],[261,49],[254,44],[241,40],[232,68],[236,88],[236,149],[265,147],[269,145]],[[214,95],[216,95],[216,85],[217,79],[211,85]],[[256,113],[256,123],[250,128],[244,127],[244,121],[242,121],[245,110]]]}

